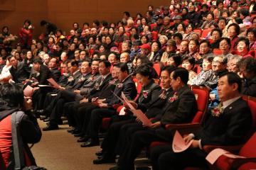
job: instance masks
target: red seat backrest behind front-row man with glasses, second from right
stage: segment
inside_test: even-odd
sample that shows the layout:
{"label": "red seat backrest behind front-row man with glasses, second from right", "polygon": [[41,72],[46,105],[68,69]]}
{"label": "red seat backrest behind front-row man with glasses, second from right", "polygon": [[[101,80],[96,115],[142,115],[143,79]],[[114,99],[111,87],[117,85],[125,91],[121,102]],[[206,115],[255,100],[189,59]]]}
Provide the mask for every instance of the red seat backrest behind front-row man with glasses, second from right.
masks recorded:
{"label": "red seat backrest behind front-row man with glasses, second from right", "polygon": [[192,123],[201,123],[203,114],[206,113],[208,100],[209,100],[209,90],[206,87],[192,86],[192,91],[196,96],[196,101],[198,104],[198,112],[192,120]]}

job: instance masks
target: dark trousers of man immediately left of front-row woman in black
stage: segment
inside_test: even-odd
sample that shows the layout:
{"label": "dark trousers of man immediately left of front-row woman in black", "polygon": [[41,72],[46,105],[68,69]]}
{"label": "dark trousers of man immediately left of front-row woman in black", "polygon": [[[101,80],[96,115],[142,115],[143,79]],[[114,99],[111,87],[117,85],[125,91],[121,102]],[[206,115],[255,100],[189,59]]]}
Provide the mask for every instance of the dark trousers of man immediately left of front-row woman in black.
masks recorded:
{"label": "dark trousers of man immediately left of front-row woman in black", "polygon": [[116,110],[114,110],[114,108],[95,108],[91,113],[90,122],[85,135],[90,136],[92,140],[99,140],[98,132],[102,124],[102,119],[110,118],[115,113]]}

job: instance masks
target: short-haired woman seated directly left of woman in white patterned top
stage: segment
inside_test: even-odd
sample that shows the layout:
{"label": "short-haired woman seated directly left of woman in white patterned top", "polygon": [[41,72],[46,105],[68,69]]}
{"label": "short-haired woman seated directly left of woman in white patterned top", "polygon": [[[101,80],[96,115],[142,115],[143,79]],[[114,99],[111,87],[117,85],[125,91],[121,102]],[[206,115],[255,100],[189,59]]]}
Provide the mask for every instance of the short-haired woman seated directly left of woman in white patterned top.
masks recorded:
{"label": "short-haired woman seated directly left of woman in white patterned top", "polygon": [[196,77],[196,72],[193,72],[195,64],[196,60],[193,57],[183,56],[181,67],[188,70],[188,81],[191,81],[194,77]]}

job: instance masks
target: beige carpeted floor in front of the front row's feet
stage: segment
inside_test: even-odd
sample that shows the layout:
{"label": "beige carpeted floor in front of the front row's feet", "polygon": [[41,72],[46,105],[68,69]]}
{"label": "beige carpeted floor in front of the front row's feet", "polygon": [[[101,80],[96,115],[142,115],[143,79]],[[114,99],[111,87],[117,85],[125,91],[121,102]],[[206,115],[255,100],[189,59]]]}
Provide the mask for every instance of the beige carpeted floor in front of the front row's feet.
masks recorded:
{"label": "beige carpeted floor in front of the front row's feet", "polygon": [[[41,128],[46,123],[39,121]],[[68,125],[60,125],[60,130],[43,132],[41,142],[34,145],[32,152],[38,166],[48,170],[104,170],[114,164],[94,165],[95,152],[100,147],[81,148],[78,139],[68,132]]]}

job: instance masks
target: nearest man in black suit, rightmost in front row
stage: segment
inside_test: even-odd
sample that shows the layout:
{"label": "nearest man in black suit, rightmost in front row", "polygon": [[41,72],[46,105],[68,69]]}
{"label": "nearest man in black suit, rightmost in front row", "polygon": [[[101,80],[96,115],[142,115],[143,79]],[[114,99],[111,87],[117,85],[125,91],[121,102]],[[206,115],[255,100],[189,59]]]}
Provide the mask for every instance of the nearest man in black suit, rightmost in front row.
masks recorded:
{"label": "nearest man in black suit, rightmost in front row", "polygon": [[[183,169],[186,166],[206,166],[204,145],[239,145],[252,125],[252,115],[247,102],[240,97],[242,82],[233,72],[220,76],[218,80],[219,106],[210,109],[203,128],[184,137],[193,140],[189,149],[174,153],[169,146],[158,146],[151,151],[154,169]],[[206,166],[207,167],[207,166]]]}

